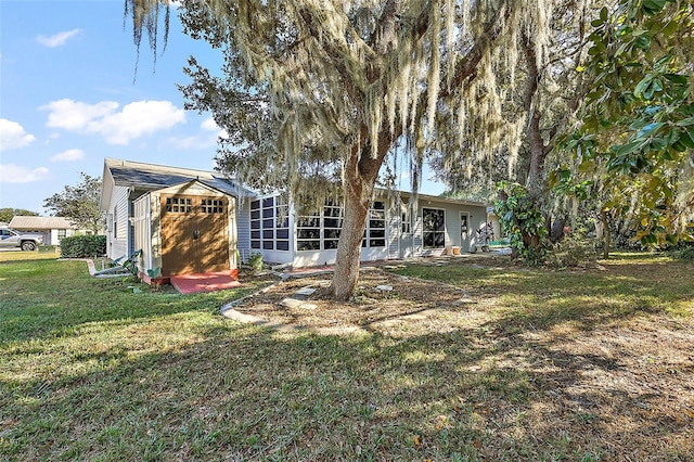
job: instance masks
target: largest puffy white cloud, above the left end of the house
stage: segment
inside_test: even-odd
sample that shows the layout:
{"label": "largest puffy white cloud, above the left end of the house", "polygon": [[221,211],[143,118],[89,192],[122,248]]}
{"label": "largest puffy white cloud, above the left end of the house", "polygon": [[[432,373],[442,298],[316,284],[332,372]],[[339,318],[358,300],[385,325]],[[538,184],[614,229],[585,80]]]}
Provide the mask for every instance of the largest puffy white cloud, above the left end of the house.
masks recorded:
{"label": "largest puffy white cloud, above the left end of the house", "polygon": [[101,134],[110,144],[128,144],[132,139],[185,123],[185,112],[170,101],[136,101],[116,112],[118,106],[114,101],[87,104],[60,100],[40,108],[51,111],[47,126]]}

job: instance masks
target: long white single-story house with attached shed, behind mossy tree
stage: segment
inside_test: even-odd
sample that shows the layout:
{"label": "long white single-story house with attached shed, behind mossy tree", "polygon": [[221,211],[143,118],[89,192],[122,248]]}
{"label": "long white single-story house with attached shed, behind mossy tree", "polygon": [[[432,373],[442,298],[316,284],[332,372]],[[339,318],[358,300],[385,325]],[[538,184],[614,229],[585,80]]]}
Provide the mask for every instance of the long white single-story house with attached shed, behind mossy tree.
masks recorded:
{"label": "long white single-story house with attached shed, behind mossy tree", "polygon": [[[343,207],[297,215],[279,194],[258,195],[218,172],[106,158],[101,208],[107,255],[142,251],[141,270],[175,275],[234,269],[252,253],[294,268],[332,265]],[[362,261],[470,252],[486,204],[380,191]]]}

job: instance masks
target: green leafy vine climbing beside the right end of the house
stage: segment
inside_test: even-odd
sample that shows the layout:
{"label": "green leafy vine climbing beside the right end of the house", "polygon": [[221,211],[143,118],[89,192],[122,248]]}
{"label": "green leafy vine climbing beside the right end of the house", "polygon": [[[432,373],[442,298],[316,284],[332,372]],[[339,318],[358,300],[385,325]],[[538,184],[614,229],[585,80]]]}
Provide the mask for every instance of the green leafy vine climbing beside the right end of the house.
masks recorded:
{"label": "green leafy vine climbing beside the right end of the house", "polygon": [[498,188],[504,198],[497,202],[494,209],[513,255],[526,265],[543,264],[548,229],[537,201],[518,183],[503,181]]}

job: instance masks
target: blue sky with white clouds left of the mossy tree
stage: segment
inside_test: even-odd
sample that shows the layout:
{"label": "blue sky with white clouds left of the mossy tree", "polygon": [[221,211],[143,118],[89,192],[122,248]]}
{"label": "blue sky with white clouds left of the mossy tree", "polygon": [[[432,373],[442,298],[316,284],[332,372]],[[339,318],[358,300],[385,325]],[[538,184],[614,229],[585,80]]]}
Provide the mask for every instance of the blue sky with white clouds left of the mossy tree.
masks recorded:
{"label": "blue sky with white clouds left of the mossy tree", "polygon": [[[189,55],[216,51],[171,22],[154,64],[143,40],[136,76],[123,0],[0,0],[0,208],[48,215],[43,200],[100,177],[104,157],[213,169],[219,128],[183,110]],[[175,16],[175,14],[174,14]],[[403,181],[402,187],[408,188]],[[425,184],[438,194],[442,185]]]}

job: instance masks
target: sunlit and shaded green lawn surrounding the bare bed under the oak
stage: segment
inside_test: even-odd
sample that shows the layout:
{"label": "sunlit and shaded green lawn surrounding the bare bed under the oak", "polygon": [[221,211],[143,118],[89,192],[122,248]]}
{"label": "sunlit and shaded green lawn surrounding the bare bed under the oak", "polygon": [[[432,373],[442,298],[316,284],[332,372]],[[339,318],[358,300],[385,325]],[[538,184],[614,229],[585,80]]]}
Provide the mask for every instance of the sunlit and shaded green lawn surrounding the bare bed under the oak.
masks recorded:
{"label": "sunlit and shaded green lawn surrounding the bare bed under the oak", "polygon": [[[660,424],[631,428],[614,410],[542,408],[560,376],[551,368],[570,360],[562,376],[576,386],[603,363],[527,335],[639,313],[692,335],[691,265],[618,264],[629,271],[617,278],[409,267],[488,294],[488,321],[416,336],[319,336],[218,315],[257,286],[134,294],[131,282],[90,278],[82,261],[3,261],[0,459],[609,460],[632,453],[621,441],[646,446],[653,434],[660,442],[642,453],[687,460],[686,420],[654,411]],[[692,374],[691,364],[673,370],[664,377]]]}

